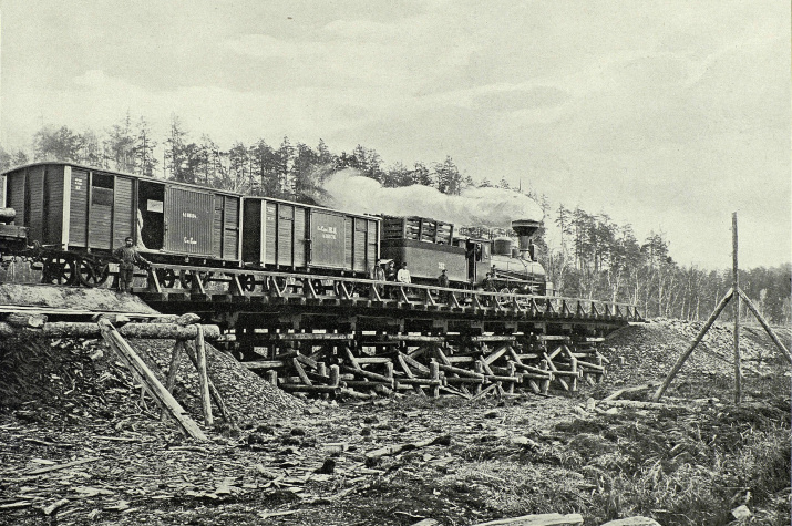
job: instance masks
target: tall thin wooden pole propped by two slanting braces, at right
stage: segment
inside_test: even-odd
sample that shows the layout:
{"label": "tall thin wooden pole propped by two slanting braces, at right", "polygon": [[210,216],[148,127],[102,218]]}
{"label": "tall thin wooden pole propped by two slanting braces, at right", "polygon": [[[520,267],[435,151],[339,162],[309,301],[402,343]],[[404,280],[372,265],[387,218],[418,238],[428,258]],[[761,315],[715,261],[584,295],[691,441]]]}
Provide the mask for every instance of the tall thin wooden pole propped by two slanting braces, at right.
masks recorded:
{"label": "tall thin wooden pole propped by two slanting braces, at right", "polygon": [[726,293],[722,300],[720,300],[720,303],[716,307],[714,311],[712,311],[712,314],[710,314],[709,319],[707,320],[707,323],[701,328],[699,331],[698,336],[693,340],[693,342],[690,344],[690,347],[682,353],[681,357],[679,357],[679,360],[677,360],[677,363],[673,364],[671,368],[671,371],[668,373],[666,377],[666,380],[664,380],[662,384],[660,384],[659,388],[657,388],[657,391],[652,395],[651,400],[652,402],[657,402],[660,400],[660,396],[662,396],[662,393],[666,392],[668,386],[671,383],[671,380],[673,380],[673,377],[677,375],[677,373],[682,369],[682,365],[685,364],[685,361],[692,354],[693,349],[701,342],[703,339],[704,334],[707,331],[712,327],[712,323],[718,319],[720,313],[723,311],[726,306],[729,303],[730,300],[734,300],[734,403],[740,403],[742,400],[742,364],[740,360],[740,300],[744,300],[745,305],[748,306],[749,310],[753,316],[757,317],[759,322],[762,324],[764,330],[768,332],[770,336],[770,339],[773,340],[775,345],[779,348],[783,357],[792,364],[792,354],[790,354],[790,351],[781,343],[781,339],[779,339],[778,336],[773,332],[773,330],[770,328],[770,324],[762,318],[762,316],[759,313],[759,310],[751,303],[751,300],[748,299],[748,296],[745,292],[740,289],[740,275],[739,275],[739,268],[738,268],[738,260],[737,260],[737,212],[732,214],[731,217],[731,228],[732,228],[732,288],[729,289],[729,291]]}

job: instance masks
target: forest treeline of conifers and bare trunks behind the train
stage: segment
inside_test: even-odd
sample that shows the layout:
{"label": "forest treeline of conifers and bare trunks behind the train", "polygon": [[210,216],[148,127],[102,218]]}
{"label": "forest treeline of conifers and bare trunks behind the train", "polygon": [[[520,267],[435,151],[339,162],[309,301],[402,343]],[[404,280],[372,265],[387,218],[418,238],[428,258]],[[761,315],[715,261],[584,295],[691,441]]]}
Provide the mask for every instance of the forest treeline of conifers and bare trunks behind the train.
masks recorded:
{"label": "forest treeline of conifers and bare trunks behind the train", "polygon": [[[160,155],[156,153],[160,152]],[[385,166],[370,147],[333,153],[320,141],[316,147],[282,137],[275,145],[261,138],[219,147],[208,135],[198,141],[172,116],[166,137],[155,137],[145,118],[127,114],[106,131],[78,132],[68,126],[43,127],[29,152],[7,152],[0,145],[2,171],[29,162],[69,161],[152,177],[195,183],[248,195],[311,202],[328,175],[354,168],[385,187],[420,184],[459,195],[471,186],[508,188],[501,179],[473,181],[446,156],[442,162],[394,163]],[[639,240],[631,225],[616,224],[607,214],[553,204],[528,193],[545,212],[537,245],[539,260],[558,295],[637,305],[647,317],[706,319],[731,285],[731,269],[681,266],[669,254],[662,233]],[[558,235],[545,235],[553,224]],[[789,323],[792,265],[740,271],[741,288],[774,323]],[[722,319],[732,317],[731,309]],[[741,317],[750,317],[742,312]]]}

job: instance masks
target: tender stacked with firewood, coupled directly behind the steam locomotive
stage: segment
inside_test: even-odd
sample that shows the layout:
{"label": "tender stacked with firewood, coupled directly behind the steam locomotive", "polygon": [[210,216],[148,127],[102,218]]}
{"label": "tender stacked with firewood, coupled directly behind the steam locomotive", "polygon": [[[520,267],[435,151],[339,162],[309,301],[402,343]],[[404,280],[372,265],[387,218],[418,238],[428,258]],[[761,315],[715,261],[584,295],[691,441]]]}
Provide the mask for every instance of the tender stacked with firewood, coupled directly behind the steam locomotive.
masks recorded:
{"label": "tender stacked with firewood, coupled directly behind the steam locomotive", "polygon": [[443,269],[451,282],[467,282],[466,250],[453,245],[453,235],[454,226],[449,223],[385,216],[380,250],[397,268],[407,261],[413,282],[436,285]]}

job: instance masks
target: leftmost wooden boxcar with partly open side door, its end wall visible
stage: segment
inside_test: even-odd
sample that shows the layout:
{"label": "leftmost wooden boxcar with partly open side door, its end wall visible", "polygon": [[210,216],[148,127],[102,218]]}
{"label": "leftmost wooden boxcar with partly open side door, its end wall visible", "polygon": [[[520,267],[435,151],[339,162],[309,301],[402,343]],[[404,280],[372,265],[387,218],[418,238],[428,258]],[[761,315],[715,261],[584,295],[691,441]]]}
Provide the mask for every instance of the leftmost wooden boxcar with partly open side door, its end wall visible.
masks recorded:
{"label": "leftmost wooden boxcar with partly open side door, its end wall visible", "polygon": [[234,193],[70,163],[6,173],[6,206],[42,246],[110,254],[132,237],[153,260],[238,264]]}

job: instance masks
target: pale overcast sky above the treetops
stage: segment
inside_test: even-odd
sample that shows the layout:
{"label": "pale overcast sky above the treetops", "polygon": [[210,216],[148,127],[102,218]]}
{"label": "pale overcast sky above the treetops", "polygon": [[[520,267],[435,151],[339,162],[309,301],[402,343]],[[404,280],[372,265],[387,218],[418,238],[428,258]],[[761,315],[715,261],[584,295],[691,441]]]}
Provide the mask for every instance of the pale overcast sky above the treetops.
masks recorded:
{"label": "pale overcast sky above the treetops", "polygon": [[450,155],[671,256],[790,260],[790,4],[0,0],[0,144],[172,113],[222,147],[284,135],[385,164]]}

